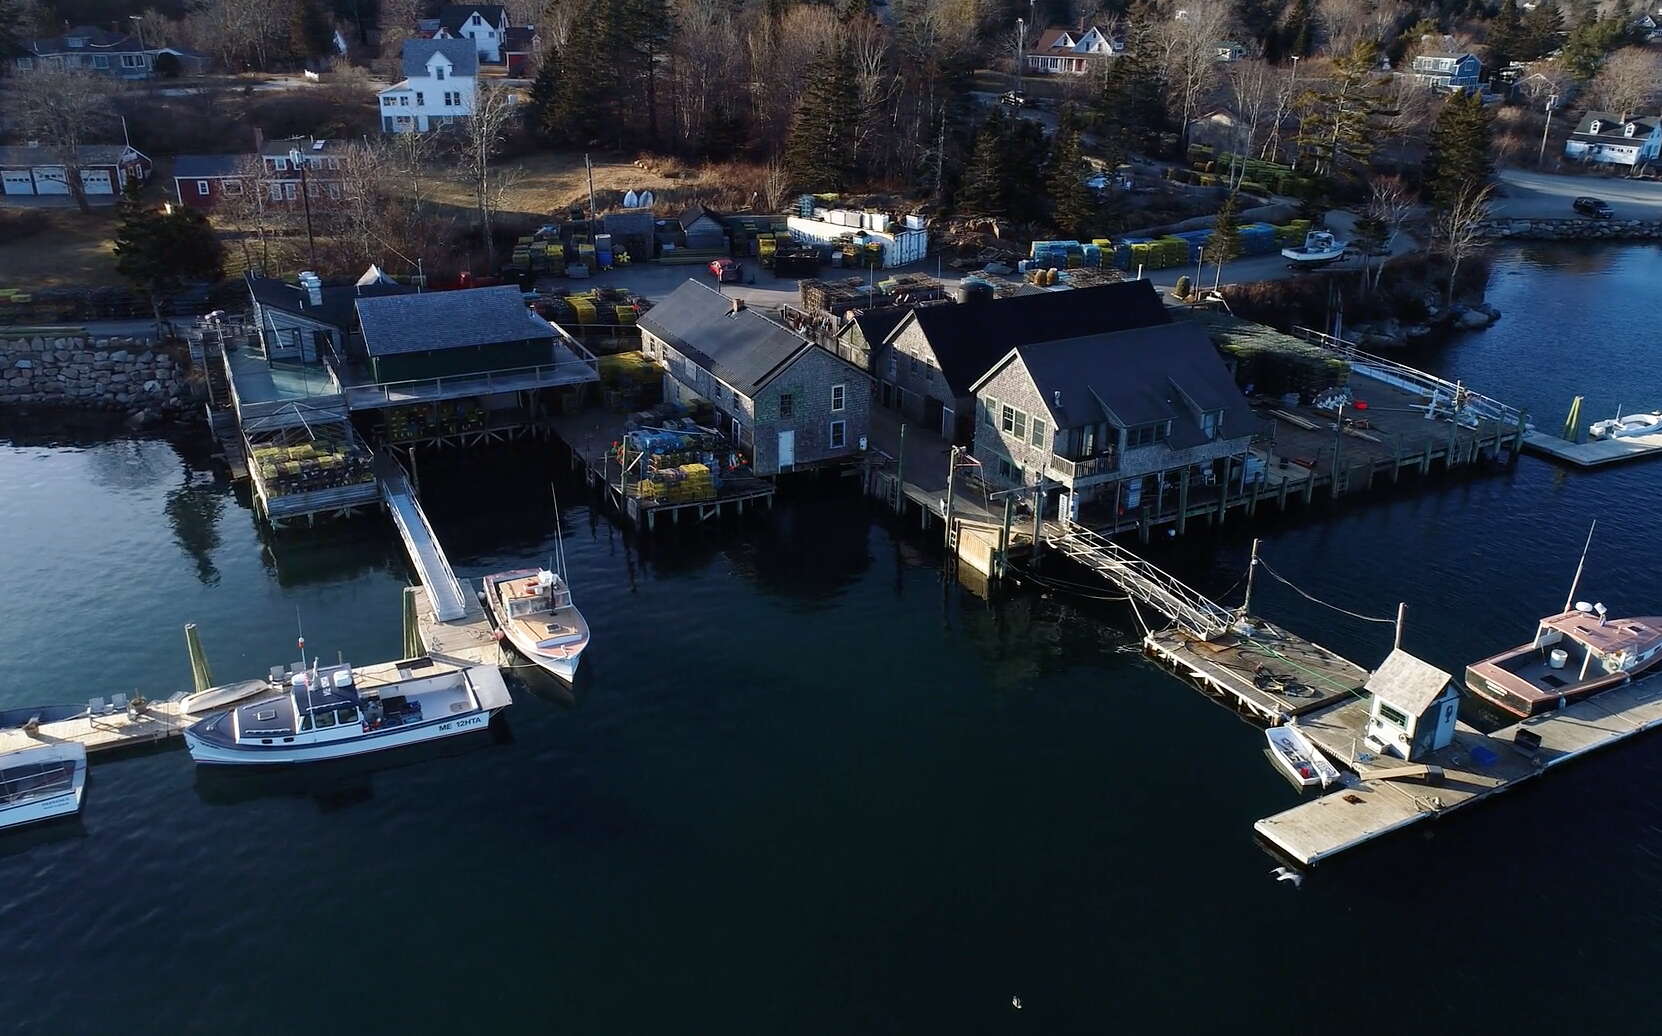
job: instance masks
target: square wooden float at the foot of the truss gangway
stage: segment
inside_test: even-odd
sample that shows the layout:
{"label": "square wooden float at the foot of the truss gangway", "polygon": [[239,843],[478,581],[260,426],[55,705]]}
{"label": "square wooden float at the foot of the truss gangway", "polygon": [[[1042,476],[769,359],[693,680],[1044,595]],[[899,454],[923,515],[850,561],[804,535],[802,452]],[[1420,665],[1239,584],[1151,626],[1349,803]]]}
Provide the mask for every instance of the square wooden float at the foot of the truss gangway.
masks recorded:
{"label": "square wooden float at the foot of the truss gangway", "polygon": [[1160,659],[1203,692],[1266,723],[1283,723],[1361,693],[1368,670],[1320,644],[1256,622],[1238,632],[1202,640],[1182,629],[1152,632],[1143,650]]}

